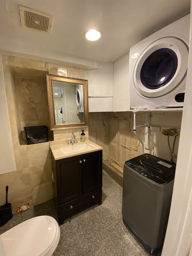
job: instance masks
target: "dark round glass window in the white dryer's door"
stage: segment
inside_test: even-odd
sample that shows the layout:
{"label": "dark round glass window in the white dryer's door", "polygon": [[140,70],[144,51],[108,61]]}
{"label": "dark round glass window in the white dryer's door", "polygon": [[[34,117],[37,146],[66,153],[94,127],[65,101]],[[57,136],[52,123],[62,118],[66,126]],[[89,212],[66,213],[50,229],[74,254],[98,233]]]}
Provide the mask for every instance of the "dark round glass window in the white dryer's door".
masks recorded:
{"label": "dark round glass window in the white dryer's door", "polygon": [[141,82],[146,88],[160,88],[173,78],[178,66],[176,53],[162,48],[152,53],[141,68]]}

